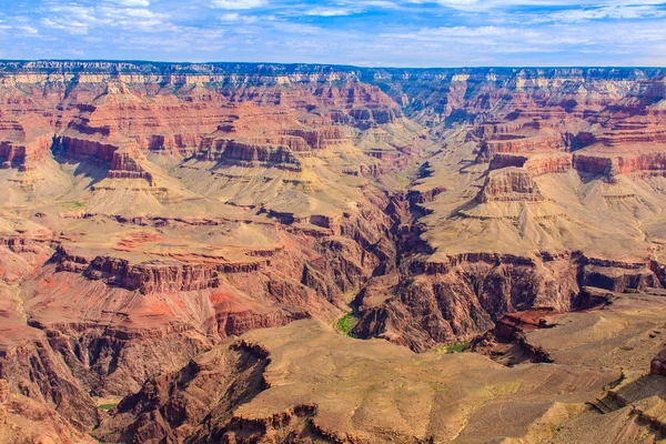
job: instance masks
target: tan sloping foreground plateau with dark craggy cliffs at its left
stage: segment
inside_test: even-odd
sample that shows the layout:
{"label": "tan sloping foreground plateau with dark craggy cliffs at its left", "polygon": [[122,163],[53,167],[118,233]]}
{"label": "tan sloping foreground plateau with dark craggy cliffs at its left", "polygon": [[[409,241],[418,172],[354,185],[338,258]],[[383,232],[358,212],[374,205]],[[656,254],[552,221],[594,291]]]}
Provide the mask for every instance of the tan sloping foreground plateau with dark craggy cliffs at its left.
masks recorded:
{"label": "tan sloping foreground plateau with dark craggy cliffs at its left", "polygon": [[[615,321],[630,313],[629,301],[625,301],[619,297],[622,307],[610,309],[605,315]],[[654,300],[642,306],[664,312],[664,304]],[[594,346],[606,344],[605,351],[588,352],[587,356],[594,356],[594,366],[586,363],[584,353],[567,359],[567,352],[578,351],[575,337],[567,336],[562,325],[548,324],[558,316],[548,310],[516,315],[513,323],[505,321],[507,330],[509,325],[522,327],[524,346],[538,350],[542,359],[564,355],[562,362],[548,365],[503,366],[477,353],[415,355],[383,341],[337,335],[313,321],[255,331],[214,347],[178,372],[149,380],[141,391],[122,400],[93,434],[109,443],[310,440],[361,444],[455,442],[461,437],[484,441],[488,434],[537,441],[544,436],[545,422],[547,436],[555,442],[575,441],[576,432],[594,441],[592,436],[601,431],[608,440],[652,438],[658,434],[655,428],[650,431],[658,417],[646,423],[629,411],[654,416],[658,410],[647,408],[644,403],[625,407],[610,401],[615,395],[645,401],[638,389],[649,384],[654,390],[663,384],[663,377],[649,381],[643,371],[643,379],[633,386],[613,384],[623,374],[616,365],[628,365],[630,370],[636,366],[618,353],[626,342],[615,342],[613,334],[601,333],[595,315],[579,313],[563,320],[585,333],[596,331],[591,341]],[[537,316],[545,317],[541,324],[549,327],[539,329]],[[529,324],[529,317],[536,319],[536,325]],[[649,326],[635,325],[633,331],[640,335]],[[539,341],[537,334],[558,340],[558,346]],[[659,342],[645,344],[645,337],[640,340],[636,342],[644,343],[636,347],[640,355]],[[596,398],[602,393],[603,400]],[[574,408],[588,400],[616,412],[606,416]],[[655,404],[659,405],[653,398]],[[460,408],[452,411],[451,405]],[[563,405],[571,411],[565,413]],[[608,427],[618,414],[626,415],[624,421]],[[512,428],[505,423],[494,425],[504,415],[513,418]],[[568,436],[559,436],[567,432]]]}

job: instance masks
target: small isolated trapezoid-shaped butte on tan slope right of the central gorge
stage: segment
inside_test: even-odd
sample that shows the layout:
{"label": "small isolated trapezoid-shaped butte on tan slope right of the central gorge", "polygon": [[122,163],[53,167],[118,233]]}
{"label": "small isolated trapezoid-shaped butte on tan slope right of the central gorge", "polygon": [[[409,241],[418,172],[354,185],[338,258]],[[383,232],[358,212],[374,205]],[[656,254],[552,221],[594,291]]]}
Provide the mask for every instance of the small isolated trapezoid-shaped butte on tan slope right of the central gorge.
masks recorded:
{"label": "small isolated trapezoid-shaped butte on tan slope right of the central gorge", "polygon": [[543,202],[544,200],[529,172],[515,167],[488,171],[483,188],[476,194],[476,201],[480,203]]}

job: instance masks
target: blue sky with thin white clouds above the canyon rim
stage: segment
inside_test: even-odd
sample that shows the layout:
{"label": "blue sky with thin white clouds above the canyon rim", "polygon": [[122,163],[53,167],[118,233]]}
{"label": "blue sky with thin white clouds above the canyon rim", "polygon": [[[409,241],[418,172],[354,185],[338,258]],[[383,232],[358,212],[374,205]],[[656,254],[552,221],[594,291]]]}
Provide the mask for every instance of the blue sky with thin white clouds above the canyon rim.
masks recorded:
{"label": "blue sky with thin white clouds above the canyon rim", "polygon": [[666,65],[666,0],[0,0],[0,58]]}

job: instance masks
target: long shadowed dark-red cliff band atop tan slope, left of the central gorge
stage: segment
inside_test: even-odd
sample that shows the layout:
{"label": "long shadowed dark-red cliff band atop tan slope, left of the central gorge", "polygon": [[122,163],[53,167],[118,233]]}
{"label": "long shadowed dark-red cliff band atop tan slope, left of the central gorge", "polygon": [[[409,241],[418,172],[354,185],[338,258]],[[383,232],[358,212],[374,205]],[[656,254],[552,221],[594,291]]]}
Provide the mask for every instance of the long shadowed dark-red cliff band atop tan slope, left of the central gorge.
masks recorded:
{"label": "long shadowed dark-red cliff band atop tan slope, left of the central gorge", "polygon": [[301,161],[286,145],[225,138],[205,139],[196,159],[248,167],[262,164],[295,172],[302,170]]}

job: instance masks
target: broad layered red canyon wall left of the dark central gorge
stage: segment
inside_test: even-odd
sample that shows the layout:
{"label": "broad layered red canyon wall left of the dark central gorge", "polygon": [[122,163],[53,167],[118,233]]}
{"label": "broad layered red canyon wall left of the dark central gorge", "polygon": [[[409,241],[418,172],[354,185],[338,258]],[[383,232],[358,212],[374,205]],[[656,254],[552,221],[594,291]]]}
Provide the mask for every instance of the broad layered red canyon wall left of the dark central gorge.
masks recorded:
{"label": "broad layered red canyon wall left of the dark central gorge", "polygon": [[81,428],[228,336],[335,319],[394,255],[397,162],[357,139],[428,143],[352,73],[153,68],[0,68],[2,205],[31,209],[0,223],[0,375]]}

